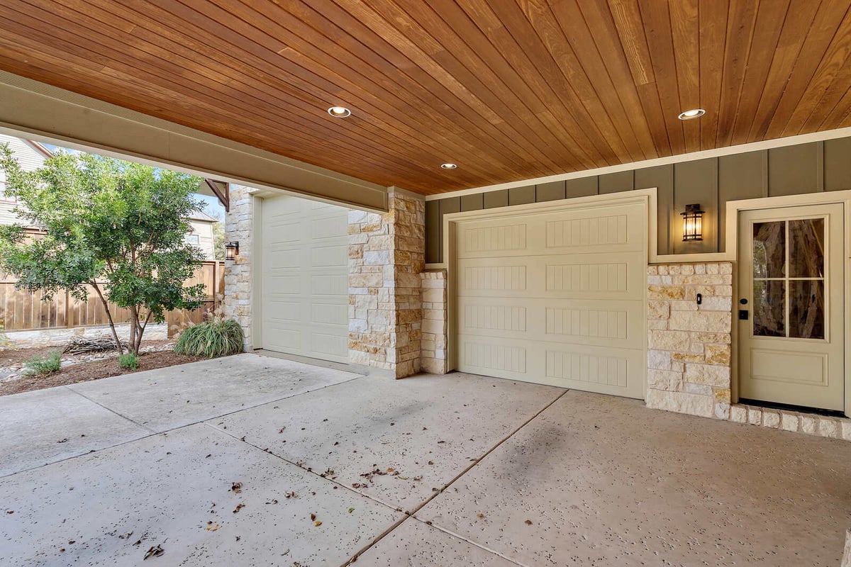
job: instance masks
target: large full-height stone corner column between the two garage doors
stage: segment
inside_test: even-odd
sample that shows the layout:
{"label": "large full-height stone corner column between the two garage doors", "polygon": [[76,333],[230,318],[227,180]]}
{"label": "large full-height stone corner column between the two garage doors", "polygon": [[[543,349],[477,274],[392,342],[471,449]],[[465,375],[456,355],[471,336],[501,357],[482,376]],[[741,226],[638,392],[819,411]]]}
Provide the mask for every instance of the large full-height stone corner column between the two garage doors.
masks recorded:
{"label": "large full-height stone corner column between the two garage doors", "polygon": [[384,214],[349,213],[349,361],[397,377],[420,371],[426,204],[402,191]]}

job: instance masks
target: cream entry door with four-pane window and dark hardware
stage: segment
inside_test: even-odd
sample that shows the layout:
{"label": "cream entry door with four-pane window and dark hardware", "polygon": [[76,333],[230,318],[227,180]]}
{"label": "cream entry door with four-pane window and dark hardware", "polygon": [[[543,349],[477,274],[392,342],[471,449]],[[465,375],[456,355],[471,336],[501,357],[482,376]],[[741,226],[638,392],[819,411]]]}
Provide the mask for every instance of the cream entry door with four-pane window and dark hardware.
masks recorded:
{"label": "cream entry door with four-pane window and dark hardware", "polygon": [[842,205],[739,219],[740,398],[842,411]]}

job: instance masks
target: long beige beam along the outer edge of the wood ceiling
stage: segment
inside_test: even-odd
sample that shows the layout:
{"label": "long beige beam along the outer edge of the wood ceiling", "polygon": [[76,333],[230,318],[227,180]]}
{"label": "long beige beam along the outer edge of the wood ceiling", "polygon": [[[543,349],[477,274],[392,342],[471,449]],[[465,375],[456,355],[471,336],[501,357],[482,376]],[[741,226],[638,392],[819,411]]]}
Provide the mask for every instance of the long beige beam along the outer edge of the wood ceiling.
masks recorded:
{"label": "long beige beam along the outer edge of the wood ceiling", "polygon": [[387,210],[387,188],[0,71],[0,132],[316,201]]}

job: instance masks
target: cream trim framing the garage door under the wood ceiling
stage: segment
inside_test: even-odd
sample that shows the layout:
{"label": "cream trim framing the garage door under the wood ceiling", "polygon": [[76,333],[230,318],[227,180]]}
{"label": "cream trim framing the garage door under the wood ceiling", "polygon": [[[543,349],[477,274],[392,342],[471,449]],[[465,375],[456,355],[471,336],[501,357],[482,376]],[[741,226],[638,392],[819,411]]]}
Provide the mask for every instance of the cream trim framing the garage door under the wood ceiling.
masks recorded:
{"label": "cream trim framing the garage door under the wood ceiling", "polygon": [[[574,199],[564,199],[562,201],[545,201],[540,203],[529,203],[528,205],[514,205],[511,207],[500,207],[494,209],[480,209],[477,211],[466,211],[464,213],[449,213],[443,216],[443,258],[446,258],[443,264],[439,267],[446,269],[446,285],[447,285],[447,352],[446,361],[447,371],[453,371],[458,366],[457,364],[457,341],[458,332],[456,328],[457,315],[457,298],[456,298],[456,264],[457,258],[455,250],[455,224],[471,220],[488,220],[503,217],[514,217],[527,213],[558,213],[561,211],[570,211],[584,208],[596,207],[614,207],[617,205],[633,205],[640,204],[644,207],[644,213],[647,218],[645,225],[648,231],[647,245],[648,257],[645,259],[646,265],[650,258],[654,258],[657,241],[657,218],[656,218],[656,188],[635,190],[615,195],[604,196],[587,196]],[[434,264],[429,266],[435,267]],[[642,388],[643,394],[647,396],[647,286],[643,286],[643,348],[644,360]]]}

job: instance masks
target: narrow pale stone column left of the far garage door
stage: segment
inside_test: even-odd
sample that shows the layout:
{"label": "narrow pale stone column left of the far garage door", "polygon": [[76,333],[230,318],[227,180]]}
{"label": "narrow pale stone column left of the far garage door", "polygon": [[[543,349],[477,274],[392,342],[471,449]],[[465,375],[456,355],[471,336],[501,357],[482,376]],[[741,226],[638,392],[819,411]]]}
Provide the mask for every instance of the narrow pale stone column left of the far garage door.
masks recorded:
{"label": "narrow pale stone column left of the far garage door", "polygon": [[252,233],[254,230],[253,189],[231,185],[231,207],[225,215],[226,241],[239,242],[239,255],[225,261],[225,315],[237,320],[245,335],[244,349],[252,348],[251,277]]}

